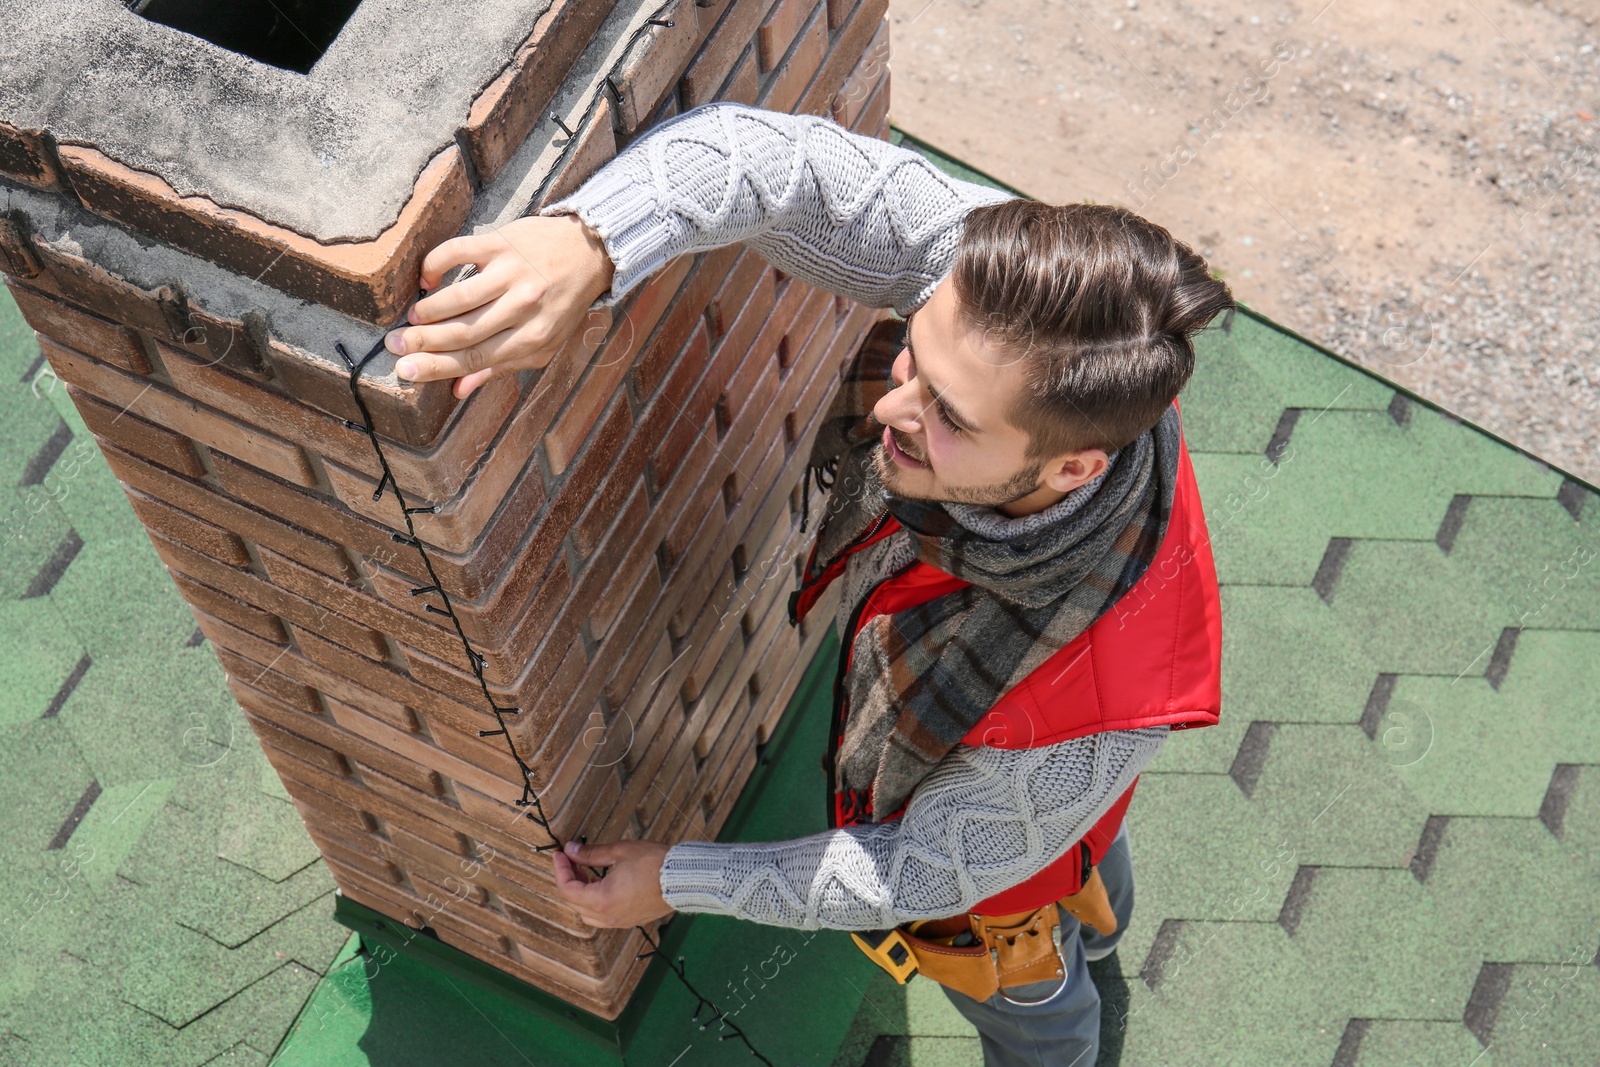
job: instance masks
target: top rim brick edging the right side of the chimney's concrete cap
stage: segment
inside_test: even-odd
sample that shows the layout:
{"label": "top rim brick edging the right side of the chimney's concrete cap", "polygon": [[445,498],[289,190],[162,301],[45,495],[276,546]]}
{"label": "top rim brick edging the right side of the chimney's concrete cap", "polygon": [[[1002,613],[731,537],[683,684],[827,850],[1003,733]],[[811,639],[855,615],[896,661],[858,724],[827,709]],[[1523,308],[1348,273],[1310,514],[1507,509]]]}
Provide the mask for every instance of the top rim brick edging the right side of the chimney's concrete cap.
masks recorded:
{"label": "top rim brick edging the right side of the chimney's concrete cap", "polygon": [[558,0],[498,78],[472,101],[462,128],[478,182],[501,173],[544,112],[616,0]]}

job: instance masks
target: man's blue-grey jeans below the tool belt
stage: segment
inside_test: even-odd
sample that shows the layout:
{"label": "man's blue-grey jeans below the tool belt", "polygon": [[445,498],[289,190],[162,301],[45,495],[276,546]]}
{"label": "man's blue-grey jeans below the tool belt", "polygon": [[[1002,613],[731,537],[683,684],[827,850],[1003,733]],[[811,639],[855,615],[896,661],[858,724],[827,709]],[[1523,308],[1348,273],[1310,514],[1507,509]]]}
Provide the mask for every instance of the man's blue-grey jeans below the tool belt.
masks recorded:
{"label": "man's blue-grey jeans below the tool belt", "polygon": [[1122,939],[1133,915],[1133,856],[1128,851],[1128,821],[1099,862],[1106,896],[1117,915],[1117,931],[1102,936],[1082,926],[1066,910],[1061,912],[1061,957],[1067,965],[1067,981],[1032,982],[1008,990],[1016,1000],[1050,997],[1040,1005],[1013,1005],[1000,993],[976,1001],[966,993],[944,989],[955,1009],[978,1027],[982,1040],[984,1067],[1094,1067],[1099,1056],[1099,990],[1090,981],[1088,958],[1110,953]]}

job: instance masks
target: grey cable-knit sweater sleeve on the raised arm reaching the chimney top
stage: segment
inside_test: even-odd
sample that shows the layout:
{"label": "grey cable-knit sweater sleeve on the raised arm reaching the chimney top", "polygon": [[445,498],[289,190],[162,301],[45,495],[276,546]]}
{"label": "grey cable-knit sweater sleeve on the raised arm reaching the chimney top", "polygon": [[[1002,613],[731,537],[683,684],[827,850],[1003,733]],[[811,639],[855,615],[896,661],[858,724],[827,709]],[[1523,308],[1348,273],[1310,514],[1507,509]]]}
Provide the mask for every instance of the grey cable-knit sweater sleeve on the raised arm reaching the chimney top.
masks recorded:
{"label": "grey cable-knit sweater sleeve on the raised arm reaching the chimney top", "polygon": [[949,274],[966,211],[1008,195],[816,115],[704,104],[539,214],[576,213],[614,264],[613,306],[670,259],[744,242],[779,270],[899,314]]}

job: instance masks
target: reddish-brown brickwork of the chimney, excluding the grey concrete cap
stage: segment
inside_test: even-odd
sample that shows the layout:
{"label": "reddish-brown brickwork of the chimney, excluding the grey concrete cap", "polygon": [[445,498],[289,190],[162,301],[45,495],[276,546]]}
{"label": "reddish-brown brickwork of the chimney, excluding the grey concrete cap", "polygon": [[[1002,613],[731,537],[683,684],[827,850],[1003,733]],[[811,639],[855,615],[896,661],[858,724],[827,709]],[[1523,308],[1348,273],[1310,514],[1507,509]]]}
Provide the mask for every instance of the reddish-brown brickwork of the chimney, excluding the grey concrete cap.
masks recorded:
{"label": "reddish-brown brickwork of the chimney, excluding the grey concrete cap", "polygon": [[[539,202],[712,99],[886,136],[885,8],[680,3],[613,72],[618,93],[573,131]],[[371,246],[229,221],[3,123],[0,174],[392,322],[418,258],[539,122],[560,83],[549,54],[570,64],[573,50],[541,61],[536,45],[581,11],[541,19]],[[341,889],[616,1017],[642,941],[587,929],[555,896],[506,742],[563,838],[717,833],[830,624],[829,603],[798,630],[784,619],[810,536],[797,486],[837,368],[880,312],[736,246],[669,264],[525,382],[466,403],[443,384],[363,384],[406,502],[437,507],[416,528],[491,696],[522,709],[509,737],[480,737],[494,718],[450,619],[410,593],[426,569],[394,537],[394,493],[373,499],[381,469],[331,352],[286,344],[259,315],[213,315],[205,291],[141,288],[32,234],[24,213],[0,219],[0,266]]]}

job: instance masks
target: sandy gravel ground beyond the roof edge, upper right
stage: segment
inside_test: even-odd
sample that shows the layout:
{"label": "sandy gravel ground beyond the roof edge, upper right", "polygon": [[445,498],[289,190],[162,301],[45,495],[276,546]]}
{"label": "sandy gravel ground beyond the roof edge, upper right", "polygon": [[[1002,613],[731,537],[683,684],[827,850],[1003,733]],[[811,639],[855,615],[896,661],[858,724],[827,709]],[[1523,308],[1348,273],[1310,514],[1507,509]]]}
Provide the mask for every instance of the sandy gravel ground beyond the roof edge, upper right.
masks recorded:
{"label": "sandy gravel ground beyond the roof edge, upper right", "polygon": [[1597,14],[891,0],[893,120],[1600,483]]}

